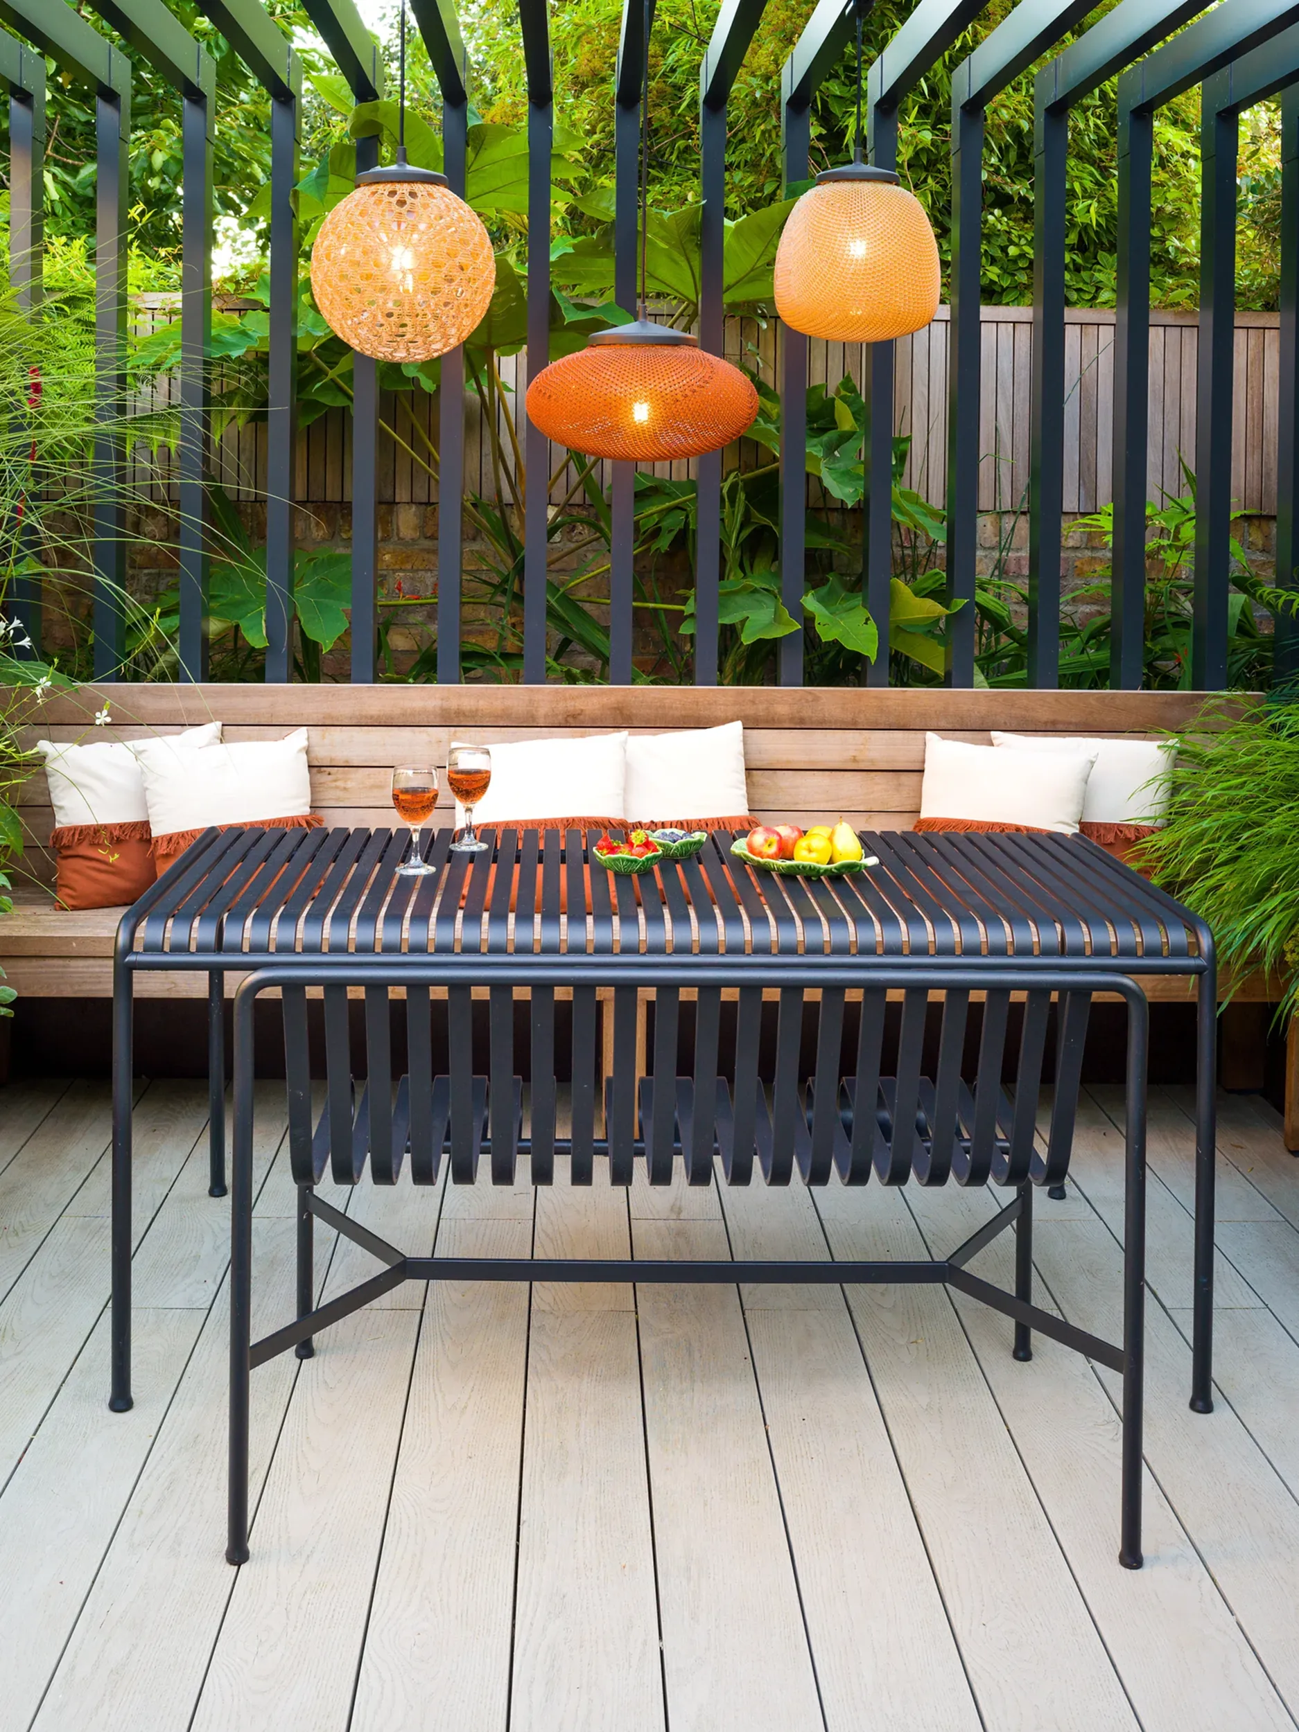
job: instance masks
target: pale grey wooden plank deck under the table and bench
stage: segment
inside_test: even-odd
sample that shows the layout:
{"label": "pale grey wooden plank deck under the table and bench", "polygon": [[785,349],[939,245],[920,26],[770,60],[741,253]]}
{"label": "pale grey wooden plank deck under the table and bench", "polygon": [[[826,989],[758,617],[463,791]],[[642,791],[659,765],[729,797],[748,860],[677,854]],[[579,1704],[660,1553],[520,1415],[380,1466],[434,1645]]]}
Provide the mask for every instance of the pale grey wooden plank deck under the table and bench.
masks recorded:
{"label": "pale grey wooden plank deck under the table and bench", "polygon": [[[1147,1567],[1115,1379],[942,1289],[416,1287],[253,1377],[222,1559],[227,1209],[204,1089],[137,1112],[135,1408],[107,1393],[107,1093],[0,1093],[0,1729],[1254,1732],[1299,1716],[1299,1162],[1221,1102],[1218,1406],[1186,1408],[1190,1100],[1152,1100]],[[1044,1302],[1117,1337],[1121,1098],[1037,1209]],[[293,1302],[260,1114],[255,1327]],[[336,1199],[338,1200],[338,1199]],[[445,1193],[464,1254],[942,1252],[992,1193]],[[329,1292],[371,1273],[319,1231]],[[1008,1238],[975,1268],[1010,1283]]]}

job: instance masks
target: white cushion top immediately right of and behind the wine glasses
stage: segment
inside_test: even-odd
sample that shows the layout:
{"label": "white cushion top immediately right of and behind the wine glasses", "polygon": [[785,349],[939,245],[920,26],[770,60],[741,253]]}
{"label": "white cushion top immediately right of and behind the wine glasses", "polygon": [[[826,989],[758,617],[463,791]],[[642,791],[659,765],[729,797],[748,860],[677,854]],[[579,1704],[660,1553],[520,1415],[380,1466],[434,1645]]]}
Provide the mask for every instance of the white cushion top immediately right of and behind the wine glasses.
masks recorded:
{"label": "white cushion top immediately right of and behind the wine glasses", "polygon": [[[466,741],[452,741],[464,745]],[[585,740],[520,740],[492,746],[492,781],[473,809],[475,824],[544,823],[554,818],[627,816],[627,734]],[[456,823],[464,807],[456,802]]]}

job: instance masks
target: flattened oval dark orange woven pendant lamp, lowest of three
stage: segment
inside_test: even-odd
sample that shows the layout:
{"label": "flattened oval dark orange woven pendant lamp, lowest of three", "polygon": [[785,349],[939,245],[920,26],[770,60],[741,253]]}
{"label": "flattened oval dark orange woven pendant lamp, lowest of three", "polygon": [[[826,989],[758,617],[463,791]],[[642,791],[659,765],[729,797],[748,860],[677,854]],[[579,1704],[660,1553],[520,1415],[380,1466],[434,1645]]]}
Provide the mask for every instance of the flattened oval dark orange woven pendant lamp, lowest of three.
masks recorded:
{"label": "flattened oval dark orange woven pendant lamp, lowest of three", "polygon": [[599,331],[528,386],[533,426],[587,457],[669,462],[740,438],[759,410],[745,374],[650,320]]}

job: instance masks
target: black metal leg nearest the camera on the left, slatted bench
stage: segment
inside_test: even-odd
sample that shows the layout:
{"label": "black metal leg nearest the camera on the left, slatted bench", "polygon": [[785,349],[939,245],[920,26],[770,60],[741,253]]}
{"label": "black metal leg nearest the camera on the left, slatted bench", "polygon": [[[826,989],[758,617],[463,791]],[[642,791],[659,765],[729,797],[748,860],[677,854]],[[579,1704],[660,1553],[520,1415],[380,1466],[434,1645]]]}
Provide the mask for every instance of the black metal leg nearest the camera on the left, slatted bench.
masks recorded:
{"label": "black metal leg nearest the camera on the left, slatted bench", "polygon": [[[234,1195],[230,1199],[230,1458],[225,1562],[248,1562],[248,1406],[253,1344],[253,1005],[234,1006]],[[300,1202],[301,1207],[301,1202]],[[301,1249],[301,1219],[298,1223]]]}

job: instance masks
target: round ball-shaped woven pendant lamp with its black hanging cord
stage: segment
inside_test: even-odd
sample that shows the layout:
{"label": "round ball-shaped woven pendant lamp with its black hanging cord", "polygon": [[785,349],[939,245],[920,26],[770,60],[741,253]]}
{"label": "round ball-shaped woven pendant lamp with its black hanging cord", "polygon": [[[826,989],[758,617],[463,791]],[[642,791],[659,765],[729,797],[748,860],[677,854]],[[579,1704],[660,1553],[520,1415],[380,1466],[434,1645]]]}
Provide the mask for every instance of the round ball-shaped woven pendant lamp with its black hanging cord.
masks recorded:
{"label": "round ball-shaped woven pendant lamp with its black hanging cord", "polygon": [[445,175],[405,159],[405,5],[395,168],[357,175],[320,223],[312,293],[326,324],[360,355],[431,360],[480,324],[495,288],[492,241]]}

